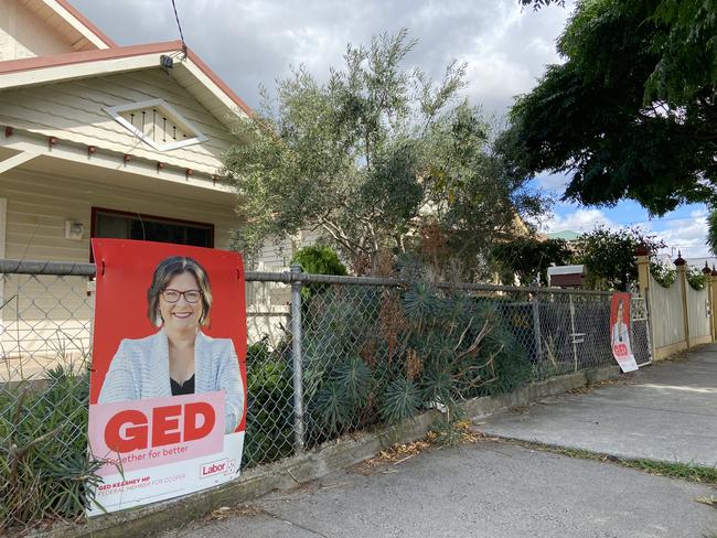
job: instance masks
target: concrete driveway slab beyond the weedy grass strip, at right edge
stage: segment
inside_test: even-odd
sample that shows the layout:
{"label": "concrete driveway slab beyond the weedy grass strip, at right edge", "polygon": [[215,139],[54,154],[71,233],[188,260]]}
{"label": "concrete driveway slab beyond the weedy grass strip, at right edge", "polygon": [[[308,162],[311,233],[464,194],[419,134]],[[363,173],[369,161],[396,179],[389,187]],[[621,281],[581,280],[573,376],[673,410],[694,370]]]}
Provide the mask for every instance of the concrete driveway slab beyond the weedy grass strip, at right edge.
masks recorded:
{"label": "concrete driveway slab beyond the weedy grass strip, at right edge", "polygon": [[620,458],[717,465],[717,345],[657,363],[587,394],[484,419],[499,437]]}

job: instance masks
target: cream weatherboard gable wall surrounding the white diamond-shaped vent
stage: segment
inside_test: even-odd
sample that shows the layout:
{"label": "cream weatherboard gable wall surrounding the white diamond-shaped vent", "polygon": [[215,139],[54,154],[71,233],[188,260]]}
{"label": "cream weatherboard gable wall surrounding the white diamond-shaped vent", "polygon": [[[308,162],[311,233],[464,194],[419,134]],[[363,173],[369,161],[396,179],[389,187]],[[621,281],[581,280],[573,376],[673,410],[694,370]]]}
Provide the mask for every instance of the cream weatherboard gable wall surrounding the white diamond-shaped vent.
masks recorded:
{"label": "cream weatherboard gable wall surrounding the white diamond-shaped vent", "polygon": [[[111,118],[105,108],[164,99],[208,140],[171,151],[158,151]],[[0,92],[0,125],[57,137],[135,158],[216,173],[221,157],[237,142],[212,116],[161,68],[60,84]]]}

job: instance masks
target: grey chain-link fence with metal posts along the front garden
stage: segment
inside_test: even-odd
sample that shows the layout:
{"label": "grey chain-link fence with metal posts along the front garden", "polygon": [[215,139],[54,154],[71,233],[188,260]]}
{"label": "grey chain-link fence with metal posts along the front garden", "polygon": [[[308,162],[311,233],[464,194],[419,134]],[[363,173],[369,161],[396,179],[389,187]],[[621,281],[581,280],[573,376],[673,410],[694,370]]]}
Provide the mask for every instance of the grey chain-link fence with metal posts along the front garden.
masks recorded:
{"label": "grey chain-link fence with metal posts along the front garden", "polygon": [[[0,531],[83,517],[94,266],[0,260]],[[247,272],[243,465],[613,364],[610,294]],[[274,298],[267,301],[266,298]],[[649,357],[648,331],[633,346]]]}

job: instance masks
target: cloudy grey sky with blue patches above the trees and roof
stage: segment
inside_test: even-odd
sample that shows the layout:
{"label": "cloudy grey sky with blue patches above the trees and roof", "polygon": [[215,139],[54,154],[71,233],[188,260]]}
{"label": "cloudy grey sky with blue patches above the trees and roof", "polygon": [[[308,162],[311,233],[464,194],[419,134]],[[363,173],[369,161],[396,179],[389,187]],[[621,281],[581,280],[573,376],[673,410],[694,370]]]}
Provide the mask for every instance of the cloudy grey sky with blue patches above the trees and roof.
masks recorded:
{"label": "cloudy grey sky with blue patches above the trees and roof", "polygon": [[[71,0],[120,45],[179,39],[171,0]],[[319,78],[341,66],[346,43],[364,44],[405,28],[417,46],[407,66],[435,78],[452,60],[467,62],[465,96],[499,121],[515,95],[528,92],[546,64],[558,62],[555,40],[568,8],[522,10],[517,0],[175,0],[188,45],[250,106],[258,86],[269,90],[291,66],[303,64]],[[536,185],[560,194],[565,177],[542,176]],[[704,257],[706,209],[682,207],[650,220],[633,203],[614,208],[558,204],[548,232],[584,232],[596,224],[640,225],[659,233],[684,255]]]}

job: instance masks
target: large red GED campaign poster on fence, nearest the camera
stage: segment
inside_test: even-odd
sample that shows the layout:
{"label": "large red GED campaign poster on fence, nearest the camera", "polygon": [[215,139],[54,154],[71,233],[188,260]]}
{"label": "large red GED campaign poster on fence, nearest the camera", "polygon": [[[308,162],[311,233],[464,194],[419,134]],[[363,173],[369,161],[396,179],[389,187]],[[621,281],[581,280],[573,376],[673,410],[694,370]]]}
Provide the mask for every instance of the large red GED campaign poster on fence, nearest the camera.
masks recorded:
{"label": "large red GED campaign poster on fence, nearest the camera", "polygon": [[89,516],[238,476],[246,416],[244,263],[237,252],[93,239]]}

